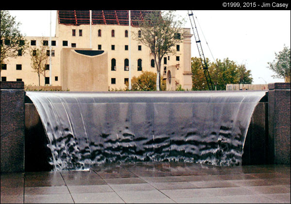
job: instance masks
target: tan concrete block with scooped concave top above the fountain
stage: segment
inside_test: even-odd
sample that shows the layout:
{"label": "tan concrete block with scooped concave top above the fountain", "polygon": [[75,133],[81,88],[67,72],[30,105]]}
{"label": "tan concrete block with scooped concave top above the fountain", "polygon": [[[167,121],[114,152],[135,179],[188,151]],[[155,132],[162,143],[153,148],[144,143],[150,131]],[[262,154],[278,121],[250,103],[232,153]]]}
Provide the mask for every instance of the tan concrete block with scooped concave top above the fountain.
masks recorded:
{"label": "tan concrete block with scooped concave top above the fountain", "polygon": [[64,48],[61,80],[63,90],[108,91],[107,52]]}

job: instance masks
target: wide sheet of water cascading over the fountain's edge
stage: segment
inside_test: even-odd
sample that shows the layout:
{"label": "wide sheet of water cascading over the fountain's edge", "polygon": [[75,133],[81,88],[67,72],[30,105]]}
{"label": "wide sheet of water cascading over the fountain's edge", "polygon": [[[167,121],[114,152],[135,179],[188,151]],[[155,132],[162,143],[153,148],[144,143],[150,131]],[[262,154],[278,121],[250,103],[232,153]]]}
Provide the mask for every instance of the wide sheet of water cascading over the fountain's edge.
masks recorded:
{"label": "wide sheet of water cascading over the fountain's edge", "polygon": [[26,92],[54,170],[135,161],[241,165],[252,113],[266,91]]}

